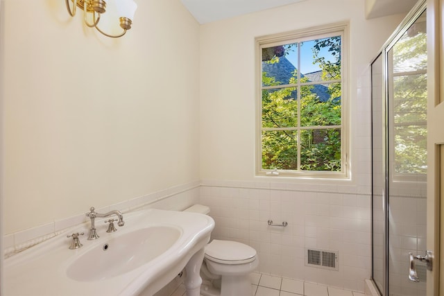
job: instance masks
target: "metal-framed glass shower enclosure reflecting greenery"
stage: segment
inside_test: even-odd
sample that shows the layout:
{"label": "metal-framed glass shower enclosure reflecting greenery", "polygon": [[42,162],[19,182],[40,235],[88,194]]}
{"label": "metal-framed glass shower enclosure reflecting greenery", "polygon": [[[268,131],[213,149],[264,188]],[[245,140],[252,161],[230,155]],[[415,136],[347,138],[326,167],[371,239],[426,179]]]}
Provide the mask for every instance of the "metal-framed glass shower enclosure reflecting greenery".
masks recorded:
{"label": "metal-framed glass shower enclosure reflecting greenery", "polygon": [[386,43],[372,71],[373,281],[382,296],[426,295],[427,35],[425,1]]}

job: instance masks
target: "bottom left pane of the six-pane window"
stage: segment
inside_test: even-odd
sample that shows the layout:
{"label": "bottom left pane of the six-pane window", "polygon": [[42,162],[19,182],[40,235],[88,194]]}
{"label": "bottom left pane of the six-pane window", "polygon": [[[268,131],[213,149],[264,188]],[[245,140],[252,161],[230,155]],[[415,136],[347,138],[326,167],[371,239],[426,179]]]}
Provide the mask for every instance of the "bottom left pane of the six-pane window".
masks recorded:
{"label": "bottom left pane of the six-pane window", "polygon": [[262,132],[262,168],[298,169],[297,132],[276,130]]}

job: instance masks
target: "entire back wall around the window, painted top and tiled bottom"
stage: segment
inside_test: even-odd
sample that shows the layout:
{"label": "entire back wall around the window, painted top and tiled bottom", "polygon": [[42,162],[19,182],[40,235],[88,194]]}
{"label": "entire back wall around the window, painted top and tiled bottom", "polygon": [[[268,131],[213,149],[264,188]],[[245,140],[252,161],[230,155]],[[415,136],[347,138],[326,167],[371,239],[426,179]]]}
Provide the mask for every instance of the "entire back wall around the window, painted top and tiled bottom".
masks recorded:
{"label": "entire back wall around the window, painted top and tiled bottom", "polygon": [[[200,201],[213,238],[255,247],[261,272],[358,291],[370,278],[369,64],[404,16],[364,10],[312,0],[201,26]],[[350,21],[351,180],[255,177],[255,37],[338,21]],[[305,247],[339,251],[339,271],[306,267]]]}

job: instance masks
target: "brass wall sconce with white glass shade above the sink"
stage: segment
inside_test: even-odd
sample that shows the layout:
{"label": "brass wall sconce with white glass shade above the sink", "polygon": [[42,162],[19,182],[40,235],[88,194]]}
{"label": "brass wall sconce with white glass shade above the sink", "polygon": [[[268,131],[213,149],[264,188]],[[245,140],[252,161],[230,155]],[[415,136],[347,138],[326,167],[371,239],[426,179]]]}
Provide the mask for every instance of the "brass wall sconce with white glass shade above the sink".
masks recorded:
{"label": "brass wall sconce with white glass shade above the sink", "polygon": [[[125,35],[126,31],[131,28],[132,19],[137,9],[137,4],[133,0],[107,0],[114,1],[117,8],[117,15],[119,15],[120,27],[123,28],[123,33],[119,35],[109,35],[97,26],[100,21],[101,14],[106,11],[106,2],[104,0],[65,0],[67,3],[67,10],[71,17],[76,15],[76,8],[83,9],[83,19],[89,28],[96,28],[97,31],[105,36],[117,38]],[[69,4],[72,2],[72,5]],[[72,6],[72,8],[71,8]],[[89,16],[88,16],[89,15]],[[90,21],[88,21],[90,19]]]}

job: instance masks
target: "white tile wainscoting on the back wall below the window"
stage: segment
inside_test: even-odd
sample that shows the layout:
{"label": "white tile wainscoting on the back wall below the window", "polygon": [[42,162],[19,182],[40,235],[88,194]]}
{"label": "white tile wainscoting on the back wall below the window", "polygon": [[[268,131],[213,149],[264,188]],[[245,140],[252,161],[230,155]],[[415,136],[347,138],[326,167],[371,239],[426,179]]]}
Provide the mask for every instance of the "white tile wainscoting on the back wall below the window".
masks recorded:
{"label": "white tile wainscoting on the back wall below the window", "polygon": [[[212,238],[259,254],[259,272],[364,291],[371,274],[370,193],[339,185],[203,180],[200,203],[216,221]],[[286,221],[287,227],[267,221]],[[305,247],[339,252],[339,270],[305,266]]]}

